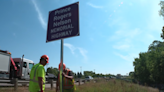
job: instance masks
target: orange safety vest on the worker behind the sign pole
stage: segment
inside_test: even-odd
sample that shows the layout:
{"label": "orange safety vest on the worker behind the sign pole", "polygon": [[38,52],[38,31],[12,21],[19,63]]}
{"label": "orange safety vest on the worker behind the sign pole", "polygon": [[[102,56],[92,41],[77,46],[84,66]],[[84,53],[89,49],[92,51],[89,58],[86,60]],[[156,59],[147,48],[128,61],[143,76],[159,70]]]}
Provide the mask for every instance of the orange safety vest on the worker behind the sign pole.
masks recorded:
{"label": "orange safety vest on the worker behind the sign pole", "polygon": [[[67,70],[66,75],[68,75],[69,71],[70,70]],[[60,81],[59,78],[60,78],[60,75],[58,74],[58,84],[59,84],[59,81]],[[63,77],[63,83],[64,83],[64,85],[63,85],[63,88],[64,89],[71,89],[71,88],[74,87],[74,81],[73,81],[73,79],[71,81],[70,79],[67,79],[67,78]]]}

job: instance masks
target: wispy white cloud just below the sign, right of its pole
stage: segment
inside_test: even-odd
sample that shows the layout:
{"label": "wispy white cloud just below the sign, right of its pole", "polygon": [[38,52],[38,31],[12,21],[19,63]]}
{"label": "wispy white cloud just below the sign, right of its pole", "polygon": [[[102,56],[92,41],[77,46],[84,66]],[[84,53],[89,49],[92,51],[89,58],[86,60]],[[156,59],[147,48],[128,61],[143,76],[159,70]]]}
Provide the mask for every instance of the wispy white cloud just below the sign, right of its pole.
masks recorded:
{"label": "wispy white cloud just below the sign, right of its pole", "polygon": [[88,60],[88,57],[87,57],[87,50],[85,50],[84,48],[81,48],[81,47],[75,47],[73,46],[72,44],[70,43],[64,43],[64,46],[68,47],[70,50],[71,50],[71,53],[75,55],[75,50],[79,50],[80,54],[84,57],[85,60]]}

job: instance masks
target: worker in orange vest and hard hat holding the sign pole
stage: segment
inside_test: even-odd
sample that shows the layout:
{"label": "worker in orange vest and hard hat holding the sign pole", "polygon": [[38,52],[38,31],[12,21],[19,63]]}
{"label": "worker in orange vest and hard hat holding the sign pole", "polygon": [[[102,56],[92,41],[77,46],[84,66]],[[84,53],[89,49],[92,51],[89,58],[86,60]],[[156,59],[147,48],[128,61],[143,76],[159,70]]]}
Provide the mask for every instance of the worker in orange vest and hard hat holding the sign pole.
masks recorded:
{"label": "worker in orange vest and hard hat holding the sign pole", "polygon": [[[61,63],[59,64],[60,71]],[[75,92],[76,87],[74,84],[73,73],[71,70],[66,69],[66,65],[63,63],[63,92]],[[60,75],[58,73],[57,82],[56,82],[56,92],[60,88]]]}

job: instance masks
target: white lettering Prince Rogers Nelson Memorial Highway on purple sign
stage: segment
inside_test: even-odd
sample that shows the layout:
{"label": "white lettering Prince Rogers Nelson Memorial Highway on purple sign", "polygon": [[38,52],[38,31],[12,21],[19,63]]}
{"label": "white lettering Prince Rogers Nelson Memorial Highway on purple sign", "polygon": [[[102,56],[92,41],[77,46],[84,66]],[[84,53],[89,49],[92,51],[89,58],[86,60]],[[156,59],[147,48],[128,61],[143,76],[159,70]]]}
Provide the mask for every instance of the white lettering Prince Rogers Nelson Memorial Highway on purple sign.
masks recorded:
{"label": "white lettering Prince Rogers Nelson Memorial Highway on purple sign", "polygon": [[[62,13],[64,14],[61,15]],[[58,14],[60,16],[57,16]],[[51,29],[51,34],[53,34],[51,36],[52,39],[71,35],[74,28],[71,19],[68,19],[71,16],[71,7],[55,11],[55,16],[53,17],[53,27],[55,28]]]}

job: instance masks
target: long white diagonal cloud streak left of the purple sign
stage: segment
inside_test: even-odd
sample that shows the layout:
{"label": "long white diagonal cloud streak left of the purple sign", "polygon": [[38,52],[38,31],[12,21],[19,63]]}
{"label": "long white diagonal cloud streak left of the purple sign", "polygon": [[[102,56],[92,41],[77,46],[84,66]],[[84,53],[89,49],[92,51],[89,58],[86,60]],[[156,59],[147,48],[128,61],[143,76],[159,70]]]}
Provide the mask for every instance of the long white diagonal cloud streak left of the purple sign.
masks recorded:
{"label": "long white diagonal cloud streak left of the purple sign", "polygon": [[38,18],[42,27],[46,30],[47,23],[44,21],[42,13],[40,12],[39,7],[37,6],[37,3],[35,2],[35,0],[31,0],[31,1],[34,4],[36,12],[38,13]]}

